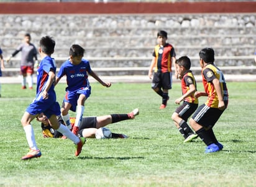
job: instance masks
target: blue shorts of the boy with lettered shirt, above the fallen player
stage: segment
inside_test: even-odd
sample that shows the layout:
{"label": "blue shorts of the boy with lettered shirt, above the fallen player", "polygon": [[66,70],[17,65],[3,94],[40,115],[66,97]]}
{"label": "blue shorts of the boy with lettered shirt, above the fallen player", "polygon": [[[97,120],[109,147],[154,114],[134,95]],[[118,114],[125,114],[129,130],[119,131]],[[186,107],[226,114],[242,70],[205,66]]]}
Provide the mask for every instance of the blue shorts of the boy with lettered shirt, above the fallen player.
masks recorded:
{"label": "blue shorts of the boy with lettered shirt, above the fallen player", "polygon": [[83,94],[83,95],[85,95],[86,98],[88,98],[89,95],[91,95],[91,86],[83,87],[81,89],[78,89],[78,90],[75,90],[72,92],[70,92],[70,91],[66,92],[63,102],[70,103],[71,111],[76,111],[77,100],[78,100],[78,97],[80,96],[80,94]]}

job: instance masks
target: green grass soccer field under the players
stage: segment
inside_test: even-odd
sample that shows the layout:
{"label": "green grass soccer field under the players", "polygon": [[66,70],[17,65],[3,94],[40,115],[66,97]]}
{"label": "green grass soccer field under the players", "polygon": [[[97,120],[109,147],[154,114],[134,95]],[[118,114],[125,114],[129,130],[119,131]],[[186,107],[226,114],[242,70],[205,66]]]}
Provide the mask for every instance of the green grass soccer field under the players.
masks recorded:
{"label": "green grass soccer field under the players", "polygon": [[[171,121],[180,97],[173,84],[165,110],[150,84],[92,84],[84,116],[128,113],[140,108],[135,120],[109,125],[129,139],[88,139],[79,157],[68,139],[43,139],[33,121],[42,157],[21,160],[29,148],[20,120],[35,90],[2,84],[0,98],[0,186],[256,186],[255,82],[229,82],[229,107],[214,126],[224,145],[221,152],[204,154],[201,139],[183,144]],[[198,90],[202,90],[198,82]],[[58,101],[65,85],[56,87]],[[206,97],[199,98],[203,103]],[[75,113],[70,113],[75,116]]]}

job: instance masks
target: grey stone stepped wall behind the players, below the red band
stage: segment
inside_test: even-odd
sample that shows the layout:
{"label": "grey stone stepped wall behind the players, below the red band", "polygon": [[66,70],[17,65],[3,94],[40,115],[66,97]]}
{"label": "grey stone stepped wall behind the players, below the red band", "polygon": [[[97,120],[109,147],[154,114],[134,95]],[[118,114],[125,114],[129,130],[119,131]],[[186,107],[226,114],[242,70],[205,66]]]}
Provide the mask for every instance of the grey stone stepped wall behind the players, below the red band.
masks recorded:
{"label": "grey stone stepped wall behind the players, below the red band", "polygon": [[220,66],[255,64],[256,14],[1,14],[0,28],[4,56],[22,42],[24,33],[31,34],[36,46],[43,35],[54,37],[58,66],[76,43],[85,48],[85,58],[91,59],[93,67],[147,67],[157,31],[162,29],[168,32],[176,55],[190,56],[193,66],[198,66],[198,52],[205,46],[214,48]]}

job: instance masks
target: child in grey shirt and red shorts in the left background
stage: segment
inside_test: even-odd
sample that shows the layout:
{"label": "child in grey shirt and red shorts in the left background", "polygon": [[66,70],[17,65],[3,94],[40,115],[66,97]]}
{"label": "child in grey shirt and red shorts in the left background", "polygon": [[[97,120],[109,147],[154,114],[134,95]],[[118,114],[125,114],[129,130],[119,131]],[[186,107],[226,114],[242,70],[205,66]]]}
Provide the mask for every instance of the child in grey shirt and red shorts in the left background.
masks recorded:
{"label": "child in grey shirt and red shorts in the left background", "polygon": [[7,63],[13,56],[21,51],[21,74],[22,74],[22,89],[26,89],[26,80],[29,84],[29,89],[33,89],[33,74],[34,74],[34,58],[37,61],[37,49],[34,44],[30,43],[31,37],[29,33],[25,34],[24,43],[19,45],[17,49],[7,58]]}

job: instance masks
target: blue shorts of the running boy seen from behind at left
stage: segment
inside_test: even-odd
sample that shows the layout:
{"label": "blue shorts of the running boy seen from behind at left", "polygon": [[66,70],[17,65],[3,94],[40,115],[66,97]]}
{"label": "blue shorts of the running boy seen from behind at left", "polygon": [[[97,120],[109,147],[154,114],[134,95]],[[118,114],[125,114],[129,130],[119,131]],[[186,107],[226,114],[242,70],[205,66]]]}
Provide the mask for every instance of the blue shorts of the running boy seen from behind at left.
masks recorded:
{"label": "blue shorts of the running boy seen from behind at left", "polygon": [[52,115],[60,115],[60,105],[56,102],[55,93],[49,93],[47,99],[43,99],[42,95],[39,95],[34,101],[27,107],[26,111],[30,115],[38,115],[44,113],[47,118]]}

